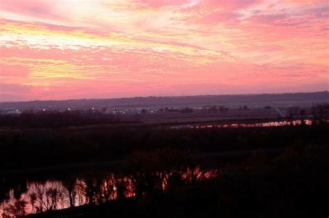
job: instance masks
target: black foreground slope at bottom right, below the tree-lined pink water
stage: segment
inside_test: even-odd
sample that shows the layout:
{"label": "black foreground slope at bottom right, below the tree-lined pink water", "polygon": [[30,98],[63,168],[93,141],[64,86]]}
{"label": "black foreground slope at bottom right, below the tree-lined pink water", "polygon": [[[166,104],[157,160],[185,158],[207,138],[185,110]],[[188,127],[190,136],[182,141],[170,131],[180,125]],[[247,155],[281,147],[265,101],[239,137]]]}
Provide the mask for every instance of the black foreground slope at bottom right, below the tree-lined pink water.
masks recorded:
{"label": "black foreground slope at bottom right, below the tree-lined pink water", "polygon": [[210,179],[192,182],[172,174],[164,191],[151,173],[164,168],[140,168],[144,176],[137,184],[149,185],[141,195],[31,217],[326,217],[328,152],[328,145],[302,144],[279,156],[259,152],[242,163],[226,163]]}

